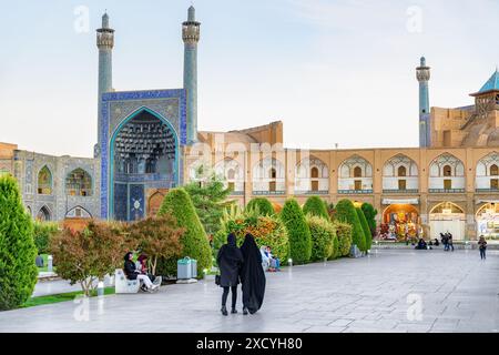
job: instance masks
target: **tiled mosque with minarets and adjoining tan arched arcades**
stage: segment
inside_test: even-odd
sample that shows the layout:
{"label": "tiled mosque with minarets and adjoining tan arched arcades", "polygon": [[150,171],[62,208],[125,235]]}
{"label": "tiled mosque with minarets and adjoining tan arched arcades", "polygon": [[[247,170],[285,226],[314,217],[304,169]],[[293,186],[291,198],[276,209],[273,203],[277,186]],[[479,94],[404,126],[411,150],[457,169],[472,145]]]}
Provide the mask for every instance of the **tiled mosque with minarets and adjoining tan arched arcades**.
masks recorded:
{"label": "tiled mosque with minarets and adjoining tan arched arcades", "polygon": [[[350,199],[378,210],[384,237],[451,232],[499,240],[499,72],[470,95],[475,104],[430,108],[421,58],[419,148],[283,148],[283,122],[230,132],[197,130],[197,43],[193,7],[182,23],[183,88],[116,91],[114,30],[96,30],[98,142],[93,158],[52,156],[0,143],[0,174],[13,175],[28,212],[44,221],[133,221],[154,214],[169,189],[204,179],[210,165],[241,205],[266,196]],[[415,122],[416,123],[416,122]],[[203,158],[200,159],[200,155]]]}

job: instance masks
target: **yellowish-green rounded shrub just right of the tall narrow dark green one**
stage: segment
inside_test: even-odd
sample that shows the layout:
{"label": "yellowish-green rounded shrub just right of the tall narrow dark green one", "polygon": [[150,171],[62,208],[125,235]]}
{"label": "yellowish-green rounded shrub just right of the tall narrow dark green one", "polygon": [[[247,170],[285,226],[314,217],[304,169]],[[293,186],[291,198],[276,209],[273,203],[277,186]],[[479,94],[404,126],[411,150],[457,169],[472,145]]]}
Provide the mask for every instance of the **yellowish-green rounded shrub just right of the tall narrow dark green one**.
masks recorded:
{"label": "yellowish-green rounded shrub just right of the tall narrow dark green one", "polygon": [[312,237],[310,261],[324,261],[335,258],[337,253],[336,231],[333,223],[324,217],[307,215],[307,224]]}

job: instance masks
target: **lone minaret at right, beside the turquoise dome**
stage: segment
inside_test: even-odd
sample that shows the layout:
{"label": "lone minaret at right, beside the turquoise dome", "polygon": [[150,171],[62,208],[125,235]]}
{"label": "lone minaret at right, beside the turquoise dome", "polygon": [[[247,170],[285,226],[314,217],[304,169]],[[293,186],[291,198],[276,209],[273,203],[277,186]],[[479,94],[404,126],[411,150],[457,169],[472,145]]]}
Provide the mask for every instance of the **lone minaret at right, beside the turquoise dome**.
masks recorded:
{"label": "lone minaret at right, beside the turquoise dome", "polygon": [[430,109],[428,93],[430,68],[426,65],[425,57],[421,57],[420,65],[416,68],[416,78],[419,81],[419,146],[430,146]]}

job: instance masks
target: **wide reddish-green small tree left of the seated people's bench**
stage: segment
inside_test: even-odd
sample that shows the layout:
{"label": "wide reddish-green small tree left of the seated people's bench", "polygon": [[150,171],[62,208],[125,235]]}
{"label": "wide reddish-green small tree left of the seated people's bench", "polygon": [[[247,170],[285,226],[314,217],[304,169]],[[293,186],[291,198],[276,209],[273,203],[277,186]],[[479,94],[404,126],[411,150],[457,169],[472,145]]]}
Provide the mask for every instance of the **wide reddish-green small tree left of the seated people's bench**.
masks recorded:
{"label": "wide reddish-green small tree left of the seated people's bench", "polygon": [[96,281],[123,267],[123,255],[136,247],[125,240],[120,226],[90,221],[83,231],[64,229],[50,243],[58,274],[72,285],[79,283],[90,296]]}

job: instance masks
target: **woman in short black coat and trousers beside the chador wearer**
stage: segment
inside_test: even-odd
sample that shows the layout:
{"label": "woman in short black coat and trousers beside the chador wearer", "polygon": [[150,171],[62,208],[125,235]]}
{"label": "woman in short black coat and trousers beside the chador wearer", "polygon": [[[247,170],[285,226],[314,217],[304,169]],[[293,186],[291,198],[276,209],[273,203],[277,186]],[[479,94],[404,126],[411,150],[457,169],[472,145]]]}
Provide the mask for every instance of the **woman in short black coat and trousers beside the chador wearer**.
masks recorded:
{"label": "woman in short black coat and trousers beside the chador wearer", "polygon": [[222,294],[222,314],[228,315],[227,303],[228,291],[232,292],[232,311],[231,313],[237,313],[237,285],[240,283],[240,270],[243,265],[244,258],[240,248],[236,245],[236,237],[234,234],[228,234],[227,244],[222,245],[216,257],[216,263],[220,268],[220,286],[224,288]]}

